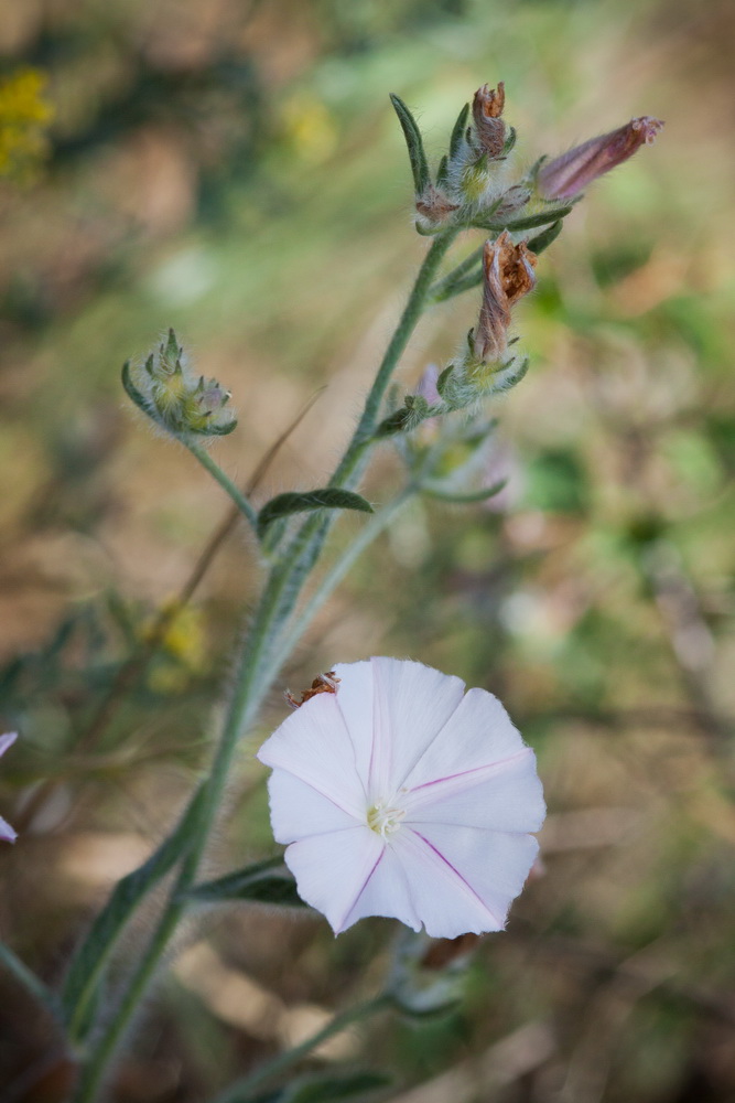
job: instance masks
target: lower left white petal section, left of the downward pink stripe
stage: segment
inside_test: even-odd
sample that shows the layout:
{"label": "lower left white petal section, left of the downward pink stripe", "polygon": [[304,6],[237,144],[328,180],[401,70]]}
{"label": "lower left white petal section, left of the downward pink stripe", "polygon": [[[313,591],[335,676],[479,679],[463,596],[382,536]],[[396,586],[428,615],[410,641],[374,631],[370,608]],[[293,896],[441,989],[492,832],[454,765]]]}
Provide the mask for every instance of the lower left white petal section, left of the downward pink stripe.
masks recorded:
{"label": "lower left white petal section, left of the downward pink stripe", "polygon": [[310,835],[288,847],[285,864],[296,879],[299,896],[328,919],[335,934],[380,861],[385,842],[369,827],[350,827]]}

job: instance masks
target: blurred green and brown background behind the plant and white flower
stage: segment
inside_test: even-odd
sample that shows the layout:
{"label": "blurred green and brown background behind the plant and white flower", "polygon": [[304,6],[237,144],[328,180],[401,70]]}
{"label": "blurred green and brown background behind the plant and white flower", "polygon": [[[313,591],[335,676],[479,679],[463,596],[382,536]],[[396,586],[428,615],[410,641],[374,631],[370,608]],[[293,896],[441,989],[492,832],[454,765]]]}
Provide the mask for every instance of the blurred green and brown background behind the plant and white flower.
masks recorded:
{"label": "blurred green and brown background behind the plant and white flower", "polygon": [[[458,674],[507,704],[547,786],[543,868],[464,1002],[378,1021],[369,1063],[397,1103],[735,1100],[734,33],[725,0],[0,3],[0,721],[22,733],[0,934],[50,983],[194,784],[259,586],[219,489],[126,405],[122,361],[175,326],[233,392],[214,454],[240,481],[318,392],[257,497],[322,484],[425,248],[388,93],[439,156],[504,79],[519,168],[631,116],[667,126],[591,189],[519,308],[507,490],[411,506],[284,677],[376,653]],[[402,385],[476,309],[425,320]],[[387,449],[370,497],[399,480]],[[251,751],[283,715],[274,693],[212,876],[274,850]],[[207,1100],[372,990],[392,930],[205,914],[111,1097]],[[3,975],[0,1099],[53,1103],[67,1079]]]}

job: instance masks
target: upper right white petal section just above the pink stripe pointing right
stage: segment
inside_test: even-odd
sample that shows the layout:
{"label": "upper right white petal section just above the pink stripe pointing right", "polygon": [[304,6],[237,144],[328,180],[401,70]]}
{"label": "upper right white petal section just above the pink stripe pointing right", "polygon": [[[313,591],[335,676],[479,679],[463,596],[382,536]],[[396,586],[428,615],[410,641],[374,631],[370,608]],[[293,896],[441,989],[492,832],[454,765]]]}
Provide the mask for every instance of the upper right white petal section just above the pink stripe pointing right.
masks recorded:
{"label": "upper right white petal section just above the pink stripe pointing right", "polygon": [[520,732],[498,698],[486,689],[469,689],[428,743],[403,785],[412,790],[440,778],[502,762],[525,748]]}

